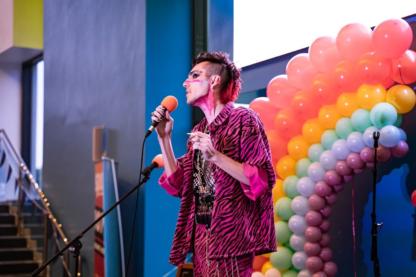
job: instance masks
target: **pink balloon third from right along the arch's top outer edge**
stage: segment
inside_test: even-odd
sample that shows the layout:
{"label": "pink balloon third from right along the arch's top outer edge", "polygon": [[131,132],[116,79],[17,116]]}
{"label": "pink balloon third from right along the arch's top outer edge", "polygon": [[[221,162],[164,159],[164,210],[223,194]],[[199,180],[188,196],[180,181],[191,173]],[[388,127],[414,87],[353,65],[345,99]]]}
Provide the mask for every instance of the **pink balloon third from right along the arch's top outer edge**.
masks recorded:
{"label": "pink balloon third from right along the arch's top outer edge", "polygon": [[333,37],[319,37],[309,47],[313,66],[324,73],[332,73],[335,65],[343,60]]}

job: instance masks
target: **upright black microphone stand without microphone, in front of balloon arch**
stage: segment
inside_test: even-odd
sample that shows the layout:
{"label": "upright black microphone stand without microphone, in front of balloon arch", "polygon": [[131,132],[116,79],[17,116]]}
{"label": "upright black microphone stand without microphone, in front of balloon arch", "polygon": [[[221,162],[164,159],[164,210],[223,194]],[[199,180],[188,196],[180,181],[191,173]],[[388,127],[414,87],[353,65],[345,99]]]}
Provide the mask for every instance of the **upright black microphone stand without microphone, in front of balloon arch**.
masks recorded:
{"label": "upright black microphone stand without microphone, in front of balloon arch", "polygon": [[380,275],[380,264],[379,257],[377,254],[377,228],[381,231],[383,223],[377,223],[376,221],[376,179],[377,179],[377,148],[379,147],[379,132],[373,133],[374,139],[374,169],[373,169],[373,212],[371,213],[371,260],[374,261],[374,276],[379,277]]}

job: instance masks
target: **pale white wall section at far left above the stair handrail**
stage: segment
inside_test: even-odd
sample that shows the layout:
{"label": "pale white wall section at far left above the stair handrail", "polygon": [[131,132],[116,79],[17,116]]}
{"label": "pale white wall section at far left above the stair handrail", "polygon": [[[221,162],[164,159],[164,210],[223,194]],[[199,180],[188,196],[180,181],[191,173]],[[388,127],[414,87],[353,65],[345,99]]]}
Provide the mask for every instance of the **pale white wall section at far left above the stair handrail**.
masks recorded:
{"label": "pale white wall section at far left above the stair handrail", "polygon": [[22,65],[0,63],[0,129],[20,151],[22,143]]}

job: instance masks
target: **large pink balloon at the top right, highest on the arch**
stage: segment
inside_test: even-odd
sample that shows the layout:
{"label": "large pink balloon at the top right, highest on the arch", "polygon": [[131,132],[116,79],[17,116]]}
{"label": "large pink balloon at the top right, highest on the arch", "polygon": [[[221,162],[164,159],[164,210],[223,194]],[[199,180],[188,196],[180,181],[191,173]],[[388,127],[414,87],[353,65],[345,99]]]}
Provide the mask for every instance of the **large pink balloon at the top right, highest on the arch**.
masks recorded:
{"label": "large pink balloon at the top right, highest on the arch", "polygon": [[374,28],[374,50],[385,58],[399,58],[409,49],[413,40],[412,29],[409,24],[399,18],[381,22]]}

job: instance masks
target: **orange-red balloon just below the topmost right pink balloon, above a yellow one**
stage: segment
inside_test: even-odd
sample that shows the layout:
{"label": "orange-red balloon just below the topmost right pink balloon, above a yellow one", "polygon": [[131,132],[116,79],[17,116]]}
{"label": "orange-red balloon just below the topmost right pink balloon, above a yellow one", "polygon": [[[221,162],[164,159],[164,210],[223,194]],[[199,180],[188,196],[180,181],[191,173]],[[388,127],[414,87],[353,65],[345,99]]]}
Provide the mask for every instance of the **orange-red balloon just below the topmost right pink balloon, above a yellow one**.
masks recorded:
{"label": "orange-red balloon just below the topmost right pink balloon, above a yellow one", "polygon": [[389,76],[390,61],[376,52],[367,52],[359,57],[355,70],[362,83],[377,85]]}

